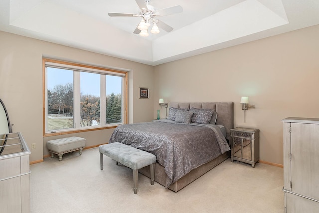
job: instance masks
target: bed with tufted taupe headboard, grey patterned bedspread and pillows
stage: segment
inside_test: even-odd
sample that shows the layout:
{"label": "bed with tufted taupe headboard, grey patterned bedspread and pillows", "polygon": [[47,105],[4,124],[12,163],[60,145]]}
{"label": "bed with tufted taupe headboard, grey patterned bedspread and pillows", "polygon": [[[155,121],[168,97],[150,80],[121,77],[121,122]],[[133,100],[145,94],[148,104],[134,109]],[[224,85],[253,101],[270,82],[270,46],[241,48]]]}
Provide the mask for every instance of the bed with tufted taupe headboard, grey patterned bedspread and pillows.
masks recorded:
{"label": "bed with tufted taupe headboard, grey patterned bedspread and pillows", "polygon": [[[172,102],[168,119],[120,125],[110,143],[156,155],[155,181],[177,192],[230,156],[233,108],[233,102]],[[149,167],[139,172],[150,176]]]}

